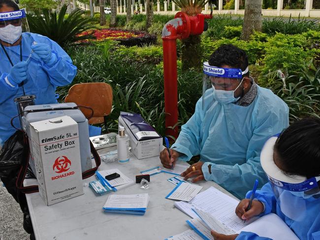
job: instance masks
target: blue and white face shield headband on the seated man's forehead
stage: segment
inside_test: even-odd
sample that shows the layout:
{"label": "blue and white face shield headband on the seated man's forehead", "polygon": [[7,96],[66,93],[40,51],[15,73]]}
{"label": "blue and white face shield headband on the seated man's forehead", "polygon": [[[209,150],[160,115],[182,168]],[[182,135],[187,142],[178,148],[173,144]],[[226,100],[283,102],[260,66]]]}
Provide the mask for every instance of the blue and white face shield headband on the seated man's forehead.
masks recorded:
{"label": "blue and white face shield headband on the seated man's forehead", "polygon": [[210,66],[209,62],[207,61],[203,63],[203,73],[212,77],[236,78],[242,80],[242,76],[245,75],[248,71],[248,66],[244,71],[242,71],[240,68],[223,68]]}

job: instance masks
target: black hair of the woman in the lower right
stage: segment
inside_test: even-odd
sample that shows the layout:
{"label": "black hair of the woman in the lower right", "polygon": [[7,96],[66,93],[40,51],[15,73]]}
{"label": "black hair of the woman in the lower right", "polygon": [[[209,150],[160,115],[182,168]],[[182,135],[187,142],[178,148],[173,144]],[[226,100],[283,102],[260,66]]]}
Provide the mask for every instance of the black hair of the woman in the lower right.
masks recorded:
{"label": "black hair of the woman in the lower right", "polygon": [[274,150],[284,172],[308,179],[320,176],[320,119],[291,124],[279,136]]}

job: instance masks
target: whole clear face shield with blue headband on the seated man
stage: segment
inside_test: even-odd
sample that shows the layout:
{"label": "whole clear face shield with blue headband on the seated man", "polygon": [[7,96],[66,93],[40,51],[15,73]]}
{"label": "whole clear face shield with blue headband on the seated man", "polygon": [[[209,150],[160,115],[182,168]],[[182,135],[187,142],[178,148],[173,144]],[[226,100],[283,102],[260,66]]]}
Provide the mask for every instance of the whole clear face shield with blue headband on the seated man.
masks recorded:
{"label": "whole clear face shield with blue headband on the seated man", "polygon": [[[202,84],[202,108],[211,105],[215,100],[214,90],[234,91],[248,72],[248,67],[242,72],[240,68],[222,68],[203,63],[203,84]],[[221,92],[220,92],[221,93]],[[226,93],[226,92],[224,92]],[[226,95],[230,95],[226,94]],[[231,94],[232,95],[232,94]],[[236,99],[234,99],[236,101]]]}

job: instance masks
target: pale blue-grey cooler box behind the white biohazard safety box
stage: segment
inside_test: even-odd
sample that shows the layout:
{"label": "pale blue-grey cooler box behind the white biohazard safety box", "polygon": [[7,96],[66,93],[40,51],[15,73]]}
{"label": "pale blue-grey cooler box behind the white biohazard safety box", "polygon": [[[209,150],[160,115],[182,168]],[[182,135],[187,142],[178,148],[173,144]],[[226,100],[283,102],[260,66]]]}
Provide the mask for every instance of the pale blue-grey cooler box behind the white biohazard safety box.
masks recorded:
{"label": "pale blue-grey cooler box behind the white biohazard safety box", "polygon": [[[58,103],[58,104],[45,104],[45,105],[31,105],[24,109],[25,116],[22,117],[23,128],[30,138],[30,123],[41,120],[48,120],[69,116],[78,123],[79,132],[79,145],[80,145],[80,159],[81,171],[85,172],[92,168],[91,150],[89,140],[89,127],[88,120],[79,109],[74,108],[75,103]],[[48,109],[46,111],[46,109]],[[41,110],[40,112],[27,112],[30,110]],[[43,110],[43,111],[42,111]],[[30,146],[32,148],[32,146]],[[32,149],[31,149],[32,151]],[[29,161],[33,173],[36,175],[35,164],[32,159]]]}

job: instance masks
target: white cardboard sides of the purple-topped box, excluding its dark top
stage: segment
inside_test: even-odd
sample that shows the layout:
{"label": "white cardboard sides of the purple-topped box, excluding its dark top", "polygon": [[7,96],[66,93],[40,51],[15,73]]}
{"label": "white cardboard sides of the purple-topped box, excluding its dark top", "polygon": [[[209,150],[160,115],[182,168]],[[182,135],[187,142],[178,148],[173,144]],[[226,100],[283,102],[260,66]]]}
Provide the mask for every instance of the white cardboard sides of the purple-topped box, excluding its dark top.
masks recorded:
{"label": "white cardboard sides of the purple-topped box, excluding its dark top", "polygon": [[125,127],[125,133],[128,134],[130,138],[131,152],[138,158],[143,159],[147,157],[159,156],[162,150],[162,138],[154,138],[149,140],[138,141],[133,136],[130,128],[125,123],[125,121],[119,117],[119,123]]}

